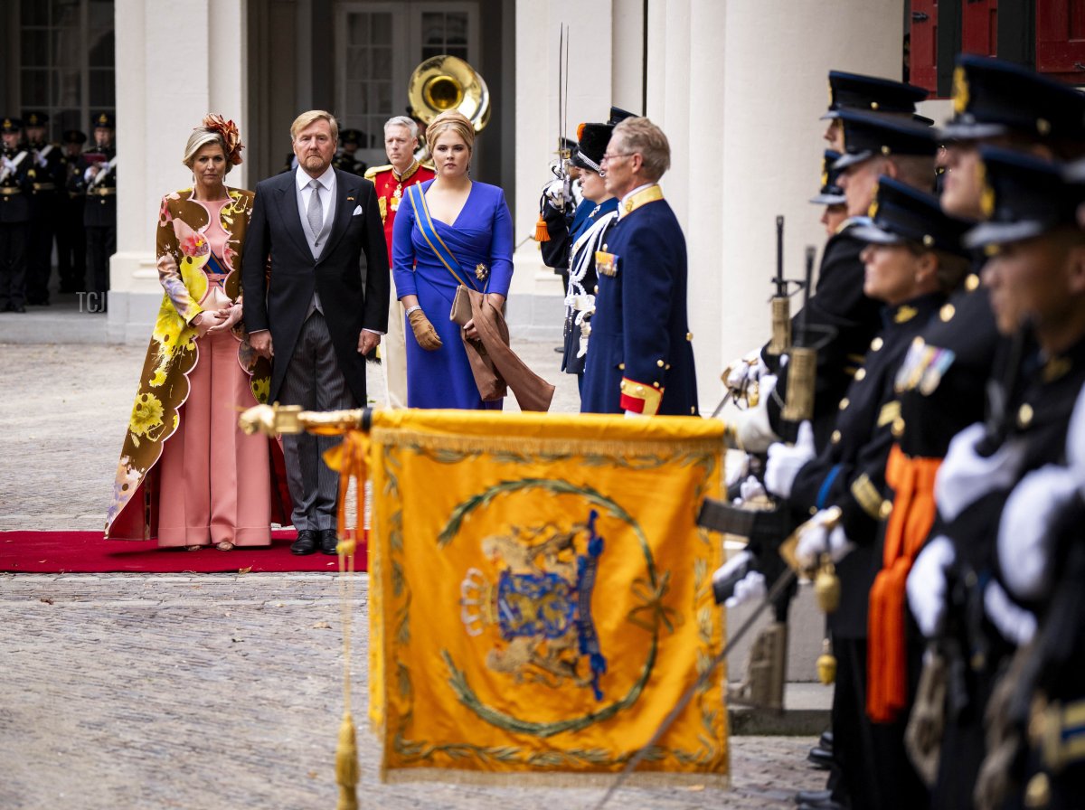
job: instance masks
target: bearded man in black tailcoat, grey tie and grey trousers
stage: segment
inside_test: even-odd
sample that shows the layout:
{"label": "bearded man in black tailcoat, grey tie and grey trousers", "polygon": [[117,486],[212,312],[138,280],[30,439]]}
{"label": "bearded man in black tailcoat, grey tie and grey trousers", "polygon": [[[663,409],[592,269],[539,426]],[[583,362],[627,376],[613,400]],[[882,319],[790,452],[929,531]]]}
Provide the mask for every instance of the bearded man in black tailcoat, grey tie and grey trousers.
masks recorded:
{"label": "bearded man in black tailcoat, grey tie and grey trousers", "polygon": [[[366,402],[365,355],[388,322],[376,193],[369,180],[332,168],[337,126],[330,113],[303,113],[290,131],[297,169],[256,185],[242,259],[245,329],[253,348],[271,358],[268,401],[357,408]],[[295,554],[335,553],[339,476],[321,458],[335,442],[283,436]]]}

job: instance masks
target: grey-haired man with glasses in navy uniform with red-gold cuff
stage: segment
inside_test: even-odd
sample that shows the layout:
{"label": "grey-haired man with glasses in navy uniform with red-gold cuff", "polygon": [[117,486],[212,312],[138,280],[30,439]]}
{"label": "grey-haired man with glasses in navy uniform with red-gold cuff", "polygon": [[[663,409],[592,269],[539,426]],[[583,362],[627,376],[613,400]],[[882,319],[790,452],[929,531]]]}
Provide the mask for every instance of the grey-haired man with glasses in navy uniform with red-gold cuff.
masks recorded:
{"label": "grey-haired man with glasses in navy uniform with red-gold cuff", "polygon": [[582,413],[697,415],[686,239],[659,187],[669,166],[666,136],[650,120],[614,128],[600,168],[618,221],[596,254]]}

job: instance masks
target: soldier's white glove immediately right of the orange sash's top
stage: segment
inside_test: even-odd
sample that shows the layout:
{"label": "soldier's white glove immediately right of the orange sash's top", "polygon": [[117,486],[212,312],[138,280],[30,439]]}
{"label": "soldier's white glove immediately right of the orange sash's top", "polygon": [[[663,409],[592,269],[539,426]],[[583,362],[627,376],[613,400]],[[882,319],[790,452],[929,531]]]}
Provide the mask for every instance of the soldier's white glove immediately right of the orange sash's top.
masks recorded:
{"label": "soldier's white glove immediately right of the orange sash's top", "polygon": [[975,447],[985,435],[983,425],[976,422],[954,436],[949,451],[939,467],[934,479],[934,500],[939,514],[954,520],[968,506],[988,492],[1009,489],[1017,481],[1024,458],[1024,447],[1020,441],[1005,442],[987,458],[980,455]]}

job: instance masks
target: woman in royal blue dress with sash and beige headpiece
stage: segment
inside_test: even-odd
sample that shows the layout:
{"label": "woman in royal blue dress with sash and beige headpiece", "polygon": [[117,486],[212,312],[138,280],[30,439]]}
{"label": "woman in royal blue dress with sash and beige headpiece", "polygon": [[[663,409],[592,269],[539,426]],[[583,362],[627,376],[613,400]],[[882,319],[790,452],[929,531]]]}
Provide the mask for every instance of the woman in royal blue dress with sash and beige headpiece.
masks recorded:
{"label": "woman in royal blue dress with sash and beige headpiece", "polygon": [[[474,127],[448,111],[426,128],[436,177],[410,187],[392,236],[393,272],[407,335],[407,407],[500,410],[475,386],[460,327],[449,320],[460,284],[501,309],[512,281],[512,217],[505,192],[468,175]],[[476,338],[474,321],[463,327]]]}

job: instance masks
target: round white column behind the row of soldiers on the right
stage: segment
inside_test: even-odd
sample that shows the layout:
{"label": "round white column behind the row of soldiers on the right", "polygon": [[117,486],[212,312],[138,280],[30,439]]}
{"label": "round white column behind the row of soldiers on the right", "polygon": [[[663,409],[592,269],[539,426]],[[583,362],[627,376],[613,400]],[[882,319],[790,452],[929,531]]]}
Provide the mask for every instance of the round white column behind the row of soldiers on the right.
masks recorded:
{"label": "round white column behind the row of soldiers on the right", "polygon": [[[807,201],[820,184],[827,145],[818,118],[828,104],[829,69],[899,78],[903,17],[903,0],[839,0],[831,12],[824,3],[791,0],[726,3],[722,79],[710,73],[690,81],[700,88],[694,110],[722,112],[716,149],[705,156],[719,172],[722,239],[715,250],[702,244],[692,261],[699,274],[720,275],[720,297],[694,305],[694,320],[707,320],[709,307],[723,316],[715,334],[704,335],[719,346],[723,363],[769,337],[776,215],[786,218],[789,278],[801,277],[805,245],[815,245],[819,258],[825,246],[821,209]],[[700,338],[698,347],[705,345]],[[704,406],[719,396],[720,363],[701,362],[698,372]]]}

